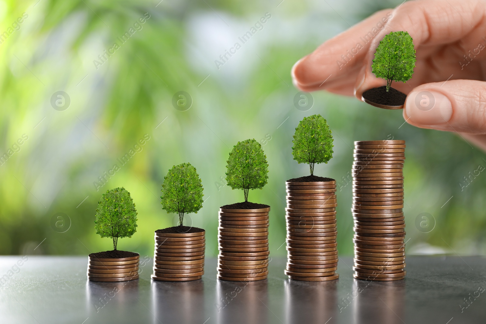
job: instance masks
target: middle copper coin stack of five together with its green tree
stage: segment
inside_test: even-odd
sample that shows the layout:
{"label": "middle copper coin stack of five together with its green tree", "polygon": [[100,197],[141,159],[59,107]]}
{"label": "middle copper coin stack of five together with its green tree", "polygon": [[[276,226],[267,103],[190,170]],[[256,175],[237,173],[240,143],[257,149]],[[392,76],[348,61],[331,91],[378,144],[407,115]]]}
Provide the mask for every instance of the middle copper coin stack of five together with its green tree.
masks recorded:
{"label": "middle copper coin stack of five together with its green tree", "polygon": [[229,153],[226,181],[243,189],[244,202],[221,206],[218,228],[218,279],[254,281],[268,274],[269,205],[248,201],[250,189],[263,188],[268,164],[255,139],[238,142]]}

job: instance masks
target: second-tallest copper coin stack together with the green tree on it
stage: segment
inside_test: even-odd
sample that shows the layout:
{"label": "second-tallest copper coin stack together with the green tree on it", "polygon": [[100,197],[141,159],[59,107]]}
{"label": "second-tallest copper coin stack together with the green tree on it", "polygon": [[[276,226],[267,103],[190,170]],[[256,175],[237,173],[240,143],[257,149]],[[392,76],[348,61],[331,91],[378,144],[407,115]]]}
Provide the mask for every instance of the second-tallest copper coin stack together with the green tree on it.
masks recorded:
{"label": "second-tallest copper coin stack together with the green tree on it", "polygon": [[339,278],[337,269],[336,181],[314,175],[316,163],[332,158],[332,136],[321,115],[306,117],[295,128],[292,153],[308,163],[311,175],[287,180],[287,268],[293,280]]}

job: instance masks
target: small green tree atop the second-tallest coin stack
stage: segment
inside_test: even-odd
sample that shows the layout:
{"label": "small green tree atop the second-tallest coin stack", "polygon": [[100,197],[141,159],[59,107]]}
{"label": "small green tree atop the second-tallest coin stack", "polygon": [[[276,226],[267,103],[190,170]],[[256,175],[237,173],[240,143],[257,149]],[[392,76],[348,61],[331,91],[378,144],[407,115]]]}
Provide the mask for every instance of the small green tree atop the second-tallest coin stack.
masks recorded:
{"label": "small green tree atop the second-tallest coin stack", "polygon": [[304,117],[295,128],[292,141],[294,160],[298,163],[308,163],[313,175],[315,163],[328,163],[332,158],[333,141],[326,119],[321,115]]}

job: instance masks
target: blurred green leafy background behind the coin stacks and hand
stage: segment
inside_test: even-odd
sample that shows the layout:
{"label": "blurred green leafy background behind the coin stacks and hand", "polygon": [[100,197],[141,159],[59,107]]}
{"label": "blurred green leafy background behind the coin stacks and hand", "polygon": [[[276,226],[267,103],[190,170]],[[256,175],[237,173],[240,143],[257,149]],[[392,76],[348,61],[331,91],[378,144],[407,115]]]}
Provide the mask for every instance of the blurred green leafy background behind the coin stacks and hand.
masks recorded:
{"label": "blurred green leafy background behind the coin stacks and hand", "polygon": [[[403,123],[401,111],[354,98],[318,92],[310,110],[294,105],[290,70],[299,58],[400,2],[0,1],[0,33],[7,32],[0,38],[0,154],[8,155],[0,165],[0,253],[110,249],[111,240],[95,234],[95,209],[103,192],[123,186],[137,206],[139,227],[120,239],[119,249],[151,256],[154,231],[177,220],[161,209],[163,177],[173,165],[191,162],[205,203],[185,222],[206,229],[206,255],[216,255],[218,208],[243,201],[243,191],[225,186],[226,159],[238,141],[255,138],[267,155],[269,180],[249,200],[271,205],[271,255],[284,256],[284,183],[309,172],[292,159],[292,136],[299,120],[321,114],[333,130],[334,157],[314,174],[338,183],[340,254],[353,251],[353,141],[392,137],[407,141],[408,253],[485,254],[486,175],[464,187],[469,172],[486,166],[485,153],[455,134]],[[215,60],[266,13],[271,18],[263,28],[217,67]],[[140,17],[145,22],[135,24]],[[122,43],[118,37],[130,28]],[[67,93],[69,104],[55,105],[57,91]],[[190,94],[190,109],[174,108],[178,91]],[[149,140],[134,149],[144,136]],[[118,159],[131,149],[121,165]],[[120,170],[101,186],[99,177],[114,164]],[[423,215],[434,226],[416,226]]]}

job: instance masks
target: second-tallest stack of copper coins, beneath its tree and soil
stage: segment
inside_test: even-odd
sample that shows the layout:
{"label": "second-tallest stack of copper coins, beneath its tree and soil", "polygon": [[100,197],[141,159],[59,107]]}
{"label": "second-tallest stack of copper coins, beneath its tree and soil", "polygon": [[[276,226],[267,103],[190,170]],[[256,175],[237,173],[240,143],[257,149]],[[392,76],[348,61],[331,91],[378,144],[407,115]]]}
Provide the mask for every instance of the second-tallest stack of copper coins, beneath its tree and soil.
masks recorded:
{"label": "second-tallest stack of copper coins, beneath its tree and soil", "polygon": [[290,279],[327,281],[337,269],[336,181],[288,182],[287,268]]}

